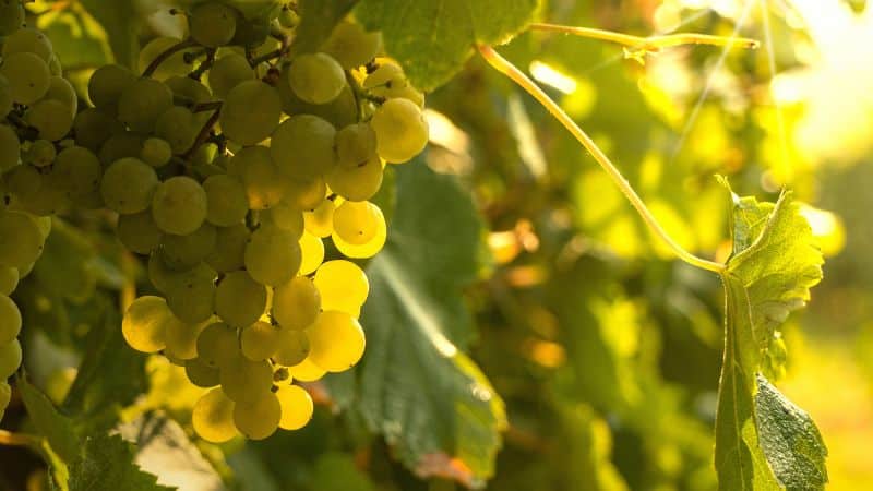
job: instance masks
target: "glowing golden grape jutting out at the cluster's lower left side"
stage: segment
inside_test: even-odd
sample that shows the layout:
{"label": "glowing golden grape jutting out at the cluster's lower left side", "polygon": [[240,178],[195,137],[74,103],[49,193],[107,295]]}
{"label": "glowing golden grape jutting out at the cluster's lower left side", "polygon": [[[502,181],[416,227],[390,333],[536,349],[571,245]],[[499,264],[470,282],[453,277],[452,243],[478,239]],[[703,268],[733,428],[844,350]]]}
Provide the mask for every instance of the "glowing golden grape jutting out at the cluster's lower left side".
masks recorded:
{"label": "glowing golden grape jutting out at the cluster's lower left side", "polygon": [[160,297],[143,296],[134,300],[124,312],[121,334],[131,348],[142,352],[157,352],[166,347],[165,332],[172,312]]}

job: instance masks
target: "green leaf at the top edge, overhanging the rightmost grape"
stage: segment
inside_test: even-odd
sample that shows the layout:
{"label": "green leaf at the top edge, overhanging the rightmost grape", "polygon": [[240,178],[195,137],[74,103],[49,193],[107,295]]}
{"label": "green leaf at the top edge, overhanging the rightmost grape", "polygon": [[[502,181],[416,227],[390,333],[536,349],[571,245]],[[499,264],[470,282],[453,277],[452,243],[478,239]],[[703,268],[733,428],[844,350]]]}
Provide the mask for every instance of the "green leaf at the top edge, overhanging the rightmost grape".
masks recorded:
{"label": "green leaf at the top edge, overhanging the rightmost grape", "polygon": [[537,0],[363,0],[355,10],[382,31],[387,53],[412,83],[432,91],[457,73],[476,44],[500,44],[518,33]]}

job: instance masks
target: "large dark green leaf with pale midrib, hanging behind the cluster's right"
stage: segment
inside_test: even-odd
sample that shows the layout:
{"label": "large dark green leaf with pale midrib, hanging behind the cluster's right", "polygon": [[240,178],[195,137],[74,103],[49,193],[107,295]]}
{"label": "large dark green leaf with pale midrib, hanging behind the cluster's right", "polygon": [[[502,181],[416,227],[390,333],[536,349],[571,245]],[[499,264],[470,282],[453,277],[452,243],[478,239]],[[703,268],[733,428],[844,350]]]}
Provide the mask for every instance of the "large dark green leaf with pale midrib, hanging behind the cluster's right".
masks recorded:
{"label": "large dark green leaf with pale midrib, hanging behind the cluster's right", "polygon": [[462,289],[476,278],[482,225],[455,179],[421,159],[397,169],[390,240],[367,271],[367,354],[358,408],[419,476],[469,486],[493,474],[503,402],[462,352],[473,336]]}

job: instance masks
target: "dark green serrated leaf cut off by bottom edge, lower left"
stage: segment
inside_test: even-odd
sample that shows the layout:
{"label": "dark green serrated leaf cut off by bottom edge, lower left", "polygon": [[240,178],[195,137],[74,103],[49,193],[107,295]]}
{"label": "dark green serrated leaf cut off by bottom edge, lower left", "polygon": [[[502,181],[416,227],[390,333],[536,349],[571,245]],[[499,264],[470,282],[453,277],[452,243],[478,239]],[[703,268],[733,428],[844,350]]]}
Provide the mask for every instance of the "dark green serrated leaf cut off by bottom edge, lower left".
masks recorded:
{"label": "dark green serrated leaf cut off by bottom edge, lower left", "polygon": [[157,478],[133,464],[133,445],[121,436],[98,433],[82,442],[76,458],[70,463],[70,491],[169,491]]}

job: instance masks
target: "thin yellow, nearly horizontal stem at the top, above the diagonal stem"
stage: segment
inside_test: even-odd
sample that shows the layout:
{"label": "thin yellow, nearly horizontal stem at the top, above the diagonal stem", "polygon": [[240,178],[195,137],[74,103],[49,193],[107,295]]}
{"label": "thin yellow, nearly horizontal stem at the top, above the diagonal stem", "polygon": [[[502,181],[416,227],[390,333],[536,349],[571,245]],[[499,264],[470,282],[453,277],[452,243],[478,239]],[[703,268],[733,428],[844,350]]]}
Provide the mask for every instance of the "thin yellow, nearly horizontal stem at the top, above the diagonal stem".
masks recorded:
{"label": "thin yellow, nearly horizontal stem at the top, above the diagonal stem", "polygon": [[591,27],[576,27],[571,25],[533,23],[528,26],[531,31],[548,31],[553,33],[571,34],[589,39],[600,39],[625,46],[625,58],[643,61],[643,56],[658,52],[663,48],[683,45],[708,45],[727,48],[757,49],[761,41],[746,37],[713,36],[709,34],[678,33],[663,36],[633,36],[630,34],[614,33]]}

